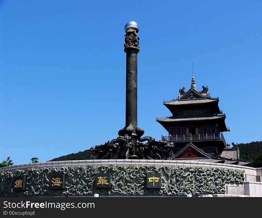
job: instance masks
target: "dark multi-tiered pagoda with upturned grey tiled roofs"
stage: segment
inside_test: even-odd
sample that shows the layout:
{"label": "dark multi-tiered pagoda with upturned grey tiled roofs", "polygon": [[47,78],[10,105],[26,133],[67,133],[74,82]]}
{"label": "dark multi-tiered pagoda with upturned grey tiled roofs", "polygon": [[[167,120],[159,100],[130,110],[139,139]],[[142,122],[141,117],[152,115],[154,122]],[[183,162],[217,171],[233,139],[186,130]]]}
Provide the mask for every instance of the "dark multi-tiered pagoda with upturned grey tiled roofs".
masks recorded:
{"label": "dark multi-tiered pagoda with upturned grey tiled roofs", "polygon": [[[183,87],[179,89],[177,99],[163,102],[172,116],[157,118],[156,121],[168,131],[168,136],[161,136],[162,141],[174,143],[173,155],[169,159],[242,163],[239,155],[224,155],[228,153],[228,144],[223,132],[230,129],[226,127],[226,115],[219,109],[218,102],[219,98],[210,97],[208,87],[196,90],[194,76],[188,91]],[[238,152],[234,148],[230,150],[231,153]],[[250,162],[241,165],[246,164]]]}

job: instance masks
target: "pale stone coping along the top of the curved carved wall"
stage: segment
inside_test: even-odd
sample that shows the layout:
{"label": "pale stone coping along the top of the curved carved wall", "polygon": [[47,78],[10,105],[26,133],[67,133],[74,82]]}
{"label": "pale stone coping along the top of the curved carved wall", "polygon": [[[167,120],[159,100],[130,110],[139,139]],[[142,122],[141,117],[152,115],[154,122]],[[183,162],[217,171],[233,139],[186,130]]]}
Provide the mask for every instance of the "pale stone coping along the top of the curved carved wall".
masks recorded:
{"label": "pale stone coping along the top of the curved carved wall", "polygon": [[233,164],[222,164],[222,163],[211,163],[211,162],[197,162],[197,161],[186,161],[186,160],[138,160],[138,159],[114,159],[114,160],[67,160],[67,161],[50,161],[50,162],[39,162],[39,163],[28,163],[13,165],[8,167],[0,168],[1,171],[9,171],[16,169],[27,169],[35,167],[52,167],[52,166],[66,166],[66,165],[104,165],[104,164],[144,164],[144,165],[177,165],[177,166],[194,166],[194,167],[218,167],[218,168],[230,168],[245,170],[246,174],[257,175],[257,171],[262,168],[252,168],[247,166],[233,165]]}

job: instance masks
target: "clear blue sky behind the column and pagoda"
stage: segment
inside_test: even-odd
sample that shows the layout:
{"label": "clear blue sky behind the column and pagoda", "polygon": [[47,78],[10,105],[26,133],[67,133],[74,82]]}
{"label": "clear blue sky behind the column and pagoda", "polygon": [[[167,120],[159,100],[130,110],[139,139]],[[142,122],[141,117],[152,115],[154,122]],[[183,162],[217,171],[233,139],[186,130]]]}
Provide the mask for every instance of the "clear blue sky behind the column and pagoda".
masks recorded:
{"label": "clear blue sky behind the column and pagoda", "polygon": [[262,140],[262,1],[0,1],[0,162],[41,162],[118,136],[125,124],[124,25],[140,26],[138,126],[179,88],[208,86],[227,143]]}

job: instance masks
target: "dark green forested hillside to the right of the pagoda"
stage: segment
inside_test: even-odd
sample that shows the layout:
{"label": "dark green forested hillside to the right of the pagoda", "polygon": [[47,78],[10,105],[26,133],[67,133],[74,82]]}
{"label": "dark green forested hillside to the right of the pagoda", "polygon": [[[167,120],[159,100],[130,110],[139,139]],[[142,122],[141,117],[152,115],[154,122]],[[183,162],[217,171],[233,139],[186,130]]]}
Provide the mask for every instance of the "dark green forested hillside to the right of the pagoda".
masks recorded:
{"label": "dark green forested hillside to the right of the pagoda", "polygon": [[254,160],[259,154],[262,153],[262,141],[240,143],[238,144],[240,159]]}

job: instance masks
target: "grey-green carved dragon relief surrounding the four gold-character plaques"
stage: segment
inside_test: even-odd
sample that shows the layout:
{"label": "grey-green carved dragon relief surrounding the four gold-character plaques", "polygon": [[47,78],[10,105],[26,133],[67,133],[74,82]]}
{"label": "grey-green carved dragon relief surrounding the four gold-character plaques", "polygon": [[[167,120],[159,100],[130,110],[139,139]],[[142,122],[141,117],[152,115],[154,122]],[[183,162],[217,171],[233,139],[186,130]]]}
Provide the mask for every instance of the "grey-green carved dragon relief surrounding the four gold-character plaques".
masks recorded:
{"label": "grey-green carved dragon relief surrounding the four gold-character plaques", "polygon": [[[49,190],[53,173],[66,175],[66,188]],[[111,188],[95,188],[96,173],[111,174]],[[146,188],[146,173],[161,173],[161,189]],[[25,191],[14,191],[14,177],[26,176]],[[0,173],[0,196],[224,194],[225,183],[243,184],[244,171],[164,165],[81,165],[29,168]]]}

